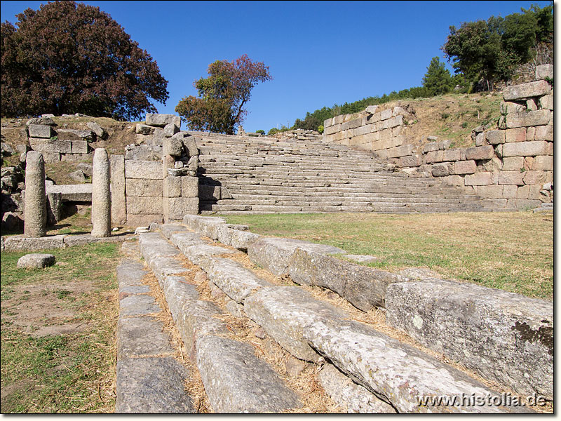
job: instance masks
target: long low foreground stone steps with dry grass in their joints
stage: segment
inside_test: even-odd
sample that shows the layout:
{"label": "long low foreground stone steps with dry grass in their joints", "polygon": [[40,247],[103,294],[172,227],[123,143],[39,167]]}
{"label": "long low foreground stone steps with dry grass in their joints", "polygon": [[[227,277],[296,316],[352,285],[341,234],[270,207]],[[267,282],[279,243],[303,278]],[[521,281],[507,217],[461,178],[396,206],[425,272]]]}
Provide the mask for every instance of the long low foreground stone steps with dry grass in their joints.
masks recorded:
{"label": "long low foreground stone steps with dry grass in their joints", "polygon": [[[229,242],[242,249],[255,235],[234,234]],[[123,249],[136,254],[117,273],[116,412],[528,412],[419,405],[417,396],[499,392],[388,334],[367,313],[334,305],[186,225],[161,225]]]}

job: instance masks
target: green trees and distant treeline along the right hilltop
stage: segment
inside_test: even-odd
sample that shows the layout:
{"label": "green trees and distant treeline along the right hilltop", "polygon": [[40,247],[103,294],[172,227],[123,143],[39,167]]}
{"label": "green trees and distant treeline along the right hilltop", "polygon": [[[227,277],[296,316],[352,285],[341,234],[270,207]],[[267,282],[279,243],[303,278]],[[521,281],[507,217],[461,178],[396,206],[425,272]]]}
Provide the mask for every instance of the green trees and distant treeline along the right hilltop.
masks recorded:
{"label": "green trees and distant treeline along the right hilltop", "polygon": [[454,76],[435,57],[427,67],[423,86],[306,112],[304,119],[296,119],[294,126],[271,128],[269,135],[295,128],[321,133],[323,121],[333,116],[353,114],[369,105],[394,100],[442,95],[455,86],[459,86],[460,93],[492,91],[494,83],[511,80],[520,65],[531,61],[536,65],[553,62],[553,1],[544,8],[532,5],[521,12],[506,18],[491,16],[488,20],[463,22],[459,28],[451,26],[441,49],[452,63]]}

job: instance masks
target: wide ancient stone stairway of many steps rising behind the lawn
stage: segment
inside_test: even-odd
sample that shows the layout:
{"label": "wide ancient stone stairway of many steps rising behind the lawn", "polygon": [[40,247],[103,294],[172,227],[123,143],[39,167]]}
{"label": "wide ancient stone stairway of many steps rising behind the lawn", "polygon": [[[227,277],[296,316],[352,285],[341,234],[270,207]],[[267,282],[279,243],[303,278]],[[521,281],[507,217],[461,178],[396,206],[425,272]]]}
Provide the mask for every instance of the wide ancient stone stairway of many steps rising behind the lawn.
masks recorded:
{"label": "wide ancient stone stairway of many steps rising behind the lawn", "polygon": [[201,198],[203,214],[499,210],[438,179],[394,172],[372,152],[312,140],[191,134],[201,149],[201,185],[222,187],[215,190],[222,194]]}

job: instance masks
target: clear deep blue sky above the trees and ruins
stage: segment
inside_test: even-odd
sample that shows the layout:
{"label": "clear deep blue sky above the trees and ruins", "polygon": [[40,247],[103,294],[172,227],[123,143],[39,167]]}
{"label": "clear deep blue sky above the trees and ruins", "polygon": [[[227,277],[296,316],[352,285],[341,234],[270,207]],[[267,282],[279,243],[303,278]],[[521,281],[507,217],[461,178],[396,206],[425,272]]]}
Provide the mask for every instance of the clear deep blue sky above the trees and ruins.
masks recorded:
{"label": "clear deep blue sky above the trees and ruins", "polygon": [[[1,1],[1,21],[46,1]],[[158,62],[175,114],[215,60],[248,54],[273,81],[252,91],[246,131],[292,125],[335,103],[420,86],[450,25],[549,1],[84,1],[99,6]]]}

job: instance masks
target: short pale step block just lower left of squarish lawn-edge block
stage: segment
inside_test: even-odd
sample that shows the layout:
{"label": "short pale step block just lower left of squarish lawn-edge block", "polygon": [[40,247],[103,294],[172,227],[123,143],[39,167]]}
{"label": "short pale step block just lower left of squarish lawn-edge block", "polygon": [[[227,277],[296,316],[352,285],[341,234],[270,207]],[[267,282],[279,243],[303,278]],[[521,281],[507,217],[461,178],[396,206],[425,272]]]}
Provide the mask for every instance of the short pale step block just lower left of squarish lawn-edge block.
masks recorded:
{"label": "short pale step block just lower left of squarish lawn-edge block", "polygon": [[271,283],[259,278],[234,260],[213,258],[205,272],[215,285],[232,300],[243,304],[248,295],[259,288],[271,286]]}

